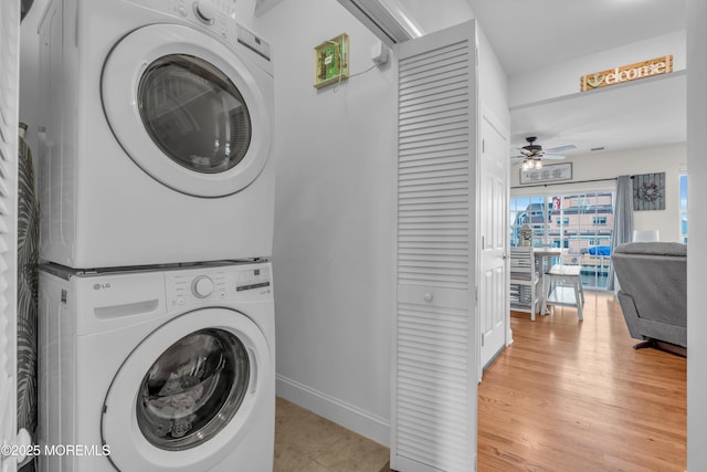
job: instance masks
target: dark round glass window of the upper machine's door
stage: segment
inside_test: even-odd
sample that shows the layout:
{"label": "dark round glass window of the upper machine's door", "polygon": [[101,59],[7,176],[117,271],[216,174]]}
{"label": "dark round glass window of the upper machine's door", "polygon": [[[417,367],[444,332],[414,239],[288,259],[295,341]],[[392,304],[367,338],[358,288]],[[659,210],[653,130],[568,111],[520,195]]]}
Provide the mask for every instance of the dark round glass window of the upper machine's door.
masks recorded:
{"label": "dark round glass window of the upper machine's door", "polygon": [[137,91],[143,125],[165,156],[197,172],[230,170],[251,144],[251,116],[238,87],[186,54],[151,63]]}

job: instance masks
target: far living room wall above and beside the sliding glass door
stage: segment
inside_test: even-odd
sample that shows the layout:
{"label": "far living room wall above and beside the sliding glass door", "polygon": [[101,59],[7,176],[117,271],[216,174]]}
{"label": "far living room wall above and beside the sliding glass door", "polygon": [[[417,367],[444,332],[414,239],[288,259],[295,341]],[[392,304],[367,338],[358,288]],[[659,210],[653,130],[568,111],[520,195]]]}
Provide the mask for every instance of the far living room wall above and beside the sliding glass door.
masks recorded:
{"label": "far living room wall above and beside the sliding glass door", "polygon": [[[685,174],[687,167],[685,144],[574,156],[568,157],[562,162],[572,162],[573,180],[613,179],[624,175],[665,172],[665,210],[634,211],[634,228],[636,230],[658,230],[661,241],[680,240],[679,175]],[[519,166],[514,166],[510,170],[510,186],[520,187],[510,190],[514,196],[615,189],[616,187],[615,181],[552,185],[547,188],[524,187],[518,183],[519,169]]]}

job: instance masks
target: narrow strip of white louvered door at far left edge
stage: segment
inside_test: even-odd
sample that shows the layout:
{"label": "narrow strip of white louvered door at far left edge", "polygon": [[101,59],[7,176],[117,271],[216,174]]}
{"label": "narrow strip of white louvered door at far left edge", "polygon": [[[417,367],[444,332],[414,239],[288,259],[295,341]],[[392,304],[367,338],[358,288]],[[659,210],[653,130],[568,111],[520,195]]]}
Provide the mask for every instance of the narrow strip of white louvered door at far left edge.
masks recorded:
{"label": "narrow strip of white louvered door at far left edge", "polygon": [[[0,444],[17,433],[17,175],[20,1],[0,1]],[[0,451],[0,471],[17,458]]]}

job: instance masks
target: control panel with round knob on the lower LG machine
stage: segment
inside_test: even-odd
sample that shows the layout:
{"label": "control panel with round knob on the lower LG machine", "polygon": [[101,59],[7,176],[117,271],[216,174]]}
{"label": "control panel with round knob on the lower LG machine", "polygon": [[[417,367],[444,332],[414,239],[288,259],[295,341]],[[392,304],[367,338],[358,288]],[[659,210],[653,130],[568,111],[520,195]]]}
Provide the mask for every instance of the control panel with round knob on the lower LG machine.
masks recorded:
{"label": "control panel with round knob on the lower LG machine", "polygon": [[168,308],[273,296],[268,263],[176,270],[165,276]]}

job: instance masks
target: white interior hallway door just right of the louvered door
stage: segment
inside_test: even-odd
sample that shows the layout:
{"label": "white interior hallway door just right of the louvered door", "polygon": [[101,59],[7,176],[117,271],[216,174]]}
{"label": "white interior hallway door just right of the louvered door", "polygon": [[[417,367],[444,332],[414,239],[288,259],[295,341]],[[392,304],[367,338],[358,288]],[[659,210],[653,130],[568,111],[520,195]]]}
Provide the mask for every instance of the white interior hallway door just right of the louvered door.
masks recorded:
{"label": "white interior hallway door just right of the louvered door", "polygon": [[478,166],[481,367],[504,348],[508,326],[506,244],[508,227],[508,132],[483,109]]}

